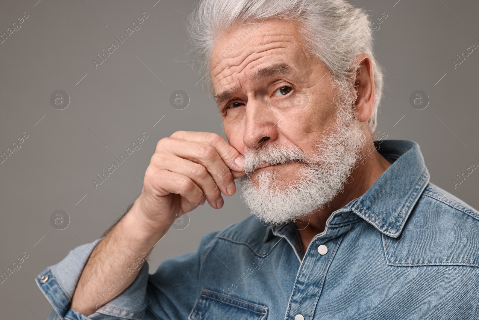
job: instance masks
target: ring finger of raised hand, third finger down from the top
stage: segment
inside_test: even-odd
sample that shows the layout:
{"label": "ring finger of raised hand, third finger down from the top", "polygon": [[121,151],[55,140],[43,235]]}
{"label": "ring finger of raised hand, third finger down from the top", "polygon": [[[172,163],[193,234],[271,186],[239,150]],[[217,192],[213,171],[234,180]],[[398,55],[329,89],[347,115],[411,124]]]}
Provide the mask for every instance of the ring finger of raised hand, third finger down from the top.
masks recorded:
{"label": "ring finger of raised hand, third finger down from the top", "polygon": [[156,158],[155,161],[158,161],[158,165],[161,165],[164,169],[192,179],[203,191],[208,203],[212,207],[218,208],[218,202],[221,201],[221,192],[205,166],[176,156]]}

